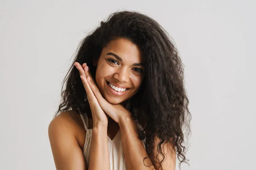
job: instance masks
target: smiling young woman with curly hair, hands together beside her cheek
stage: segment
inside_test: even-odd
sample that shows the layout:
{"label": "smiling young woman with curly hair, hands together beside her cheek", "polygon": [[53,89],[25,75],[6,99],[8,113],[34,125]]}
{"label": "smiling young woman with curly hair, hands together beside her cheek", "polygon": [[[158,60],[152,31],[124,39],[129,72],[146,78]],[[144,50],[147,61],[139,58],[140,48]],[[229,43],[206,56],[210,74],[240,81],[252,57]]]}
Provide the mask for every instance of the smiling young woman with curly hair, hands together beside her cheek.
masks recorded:
{"label": "smiling young woman with curly hair, hands together beside her cheek", "polygon": [[58,170],[175,170],[176,156],[188,161],[183,64],[155,20],[111,14],[81,42],[73,65],[49,125]]}

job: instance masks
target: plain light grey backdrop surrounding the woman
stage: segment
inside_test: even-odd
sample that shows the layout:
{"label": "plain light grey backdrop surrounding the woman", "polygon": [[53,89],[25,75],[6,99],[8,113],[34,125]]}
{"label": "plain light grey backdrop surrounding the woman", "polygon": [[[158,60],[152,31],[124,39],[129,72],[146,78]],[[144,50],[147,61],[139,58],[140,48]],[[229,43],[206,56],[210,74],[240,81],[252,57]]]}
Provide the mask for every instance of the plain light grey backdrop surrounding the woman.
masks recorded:
{"label": "plain light grey backdrop surrounding the woman", "polygon": [[160,23],[185,65],[192,134],[183,170],[253,169],[253,0],[1,0],[0,169],[55,170],[48,125],[61,82],[82,38],[121,10]]}

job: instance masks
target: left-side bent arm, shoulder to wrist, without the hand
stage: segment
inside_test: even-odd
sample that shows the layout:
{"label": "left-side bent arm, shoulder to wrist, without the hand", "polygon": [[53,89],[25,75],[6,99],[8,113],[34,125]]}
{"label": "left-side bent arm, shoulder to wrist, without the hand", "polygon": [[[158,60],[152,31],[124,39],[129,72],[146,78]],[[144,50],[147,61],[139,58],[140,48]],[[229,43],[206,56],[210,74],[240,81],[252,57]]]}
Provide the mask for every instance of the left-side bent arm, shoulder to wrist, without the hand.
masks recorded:
{"label": "left-side bent arm, shoulder to wrist, without the hand", "polygon": [[[76,139],[76,123],[68,114],[61,113],[49,125],[49,140],[57,170],[109,170],[107,128],[93,127],[90,146],[90,165]],[[79,135],[79,134],[77,134]],[[109,167],[109,168],[106,168]]]}

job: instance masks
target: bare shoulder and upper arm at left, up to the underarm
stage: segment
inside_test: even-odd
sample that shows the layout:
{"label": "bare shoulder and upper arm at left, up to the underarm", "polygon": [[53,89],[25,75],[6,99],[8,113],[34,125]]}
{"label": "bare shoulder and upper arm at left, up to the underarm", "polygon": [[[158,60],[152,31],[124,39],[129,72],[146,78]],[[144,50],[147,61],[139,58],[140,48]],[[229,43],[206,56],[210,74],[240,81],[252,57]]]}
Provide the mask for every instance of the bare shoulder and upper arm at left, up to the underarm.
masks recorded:
{"label": "bare shoulder and upper arm at left, up to the underarm", "polygon": [[83,155],[86,131],[81,116],[74,111],[65,111],[49,124],[48,134],[56,169],[85,169]]}

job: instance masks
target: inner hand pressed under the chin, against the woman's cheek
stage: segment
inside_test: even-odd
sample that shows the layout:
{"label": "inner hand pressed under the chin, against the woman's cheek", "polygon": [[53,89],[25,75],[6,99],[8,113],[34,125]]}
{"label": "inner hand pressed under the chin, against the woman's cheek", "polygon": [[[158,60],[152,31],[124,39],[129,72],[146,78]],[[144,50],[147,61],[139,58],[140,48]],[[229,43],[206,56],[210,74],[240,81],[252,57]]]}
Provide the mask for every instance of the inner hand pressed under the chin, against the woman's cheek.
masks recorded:
{"label": "inner hand pressed under the chin, against the woman's cheek", "polygon": [[90,85],[90,89],[93,91],[93,94],[96,97],[98,104],[105,111],[105,113],[107,113],[108,116],[110,116],[118,124],[122,118],[131,116],[131,113],[128,110],[126,110],[122,105],[112,104],[108,102],[106,99],[104,99],[102,94],[99,91],[98,86],[93,81],[93,77],[89,72],[89,67],[86,64],[83,64],[82,67],[87,77],[87,80],[88,80],[87,82]]}

